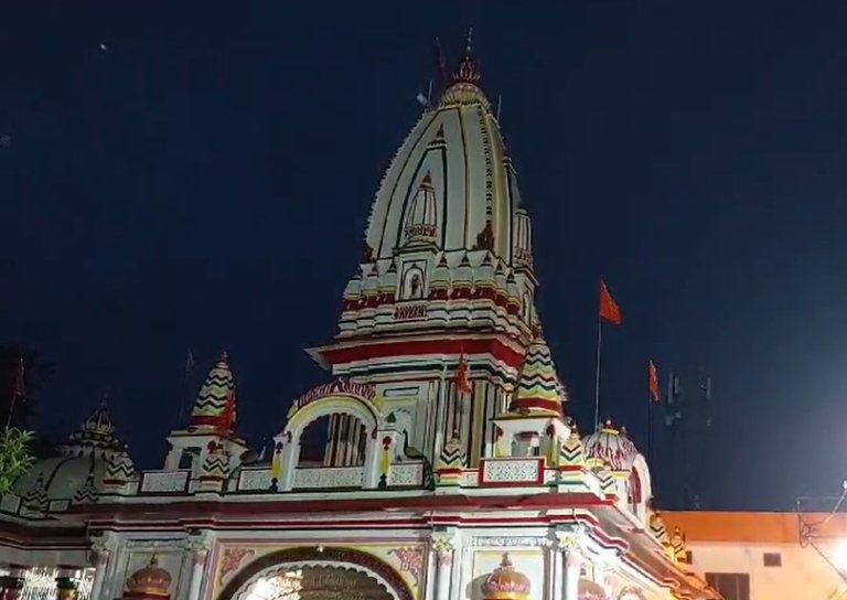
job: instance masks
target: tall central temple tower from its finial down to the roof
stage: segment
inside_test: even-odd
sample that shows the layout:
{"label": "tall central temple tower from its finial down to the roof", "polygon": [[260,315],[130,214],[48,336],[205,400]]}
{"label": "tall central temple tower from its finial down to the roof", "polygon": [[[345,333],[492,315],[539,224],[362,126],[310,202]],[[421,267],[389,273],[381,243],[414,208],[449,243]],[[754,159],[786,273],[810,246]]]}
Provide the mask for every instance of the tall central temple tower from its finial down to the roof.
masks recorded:
{"label": "tall central temple tower from its finial down to the roof", "polygon": [[[539,330],[532,225],[480,78],[469,41],[379,184],[335,341],[309,351],[373,386],[407,446],[436,462],[458,441],[470,465],[493,456],[492,419]],[[361,424],[344,419],[331,418],[325,457],[356,456]]]}

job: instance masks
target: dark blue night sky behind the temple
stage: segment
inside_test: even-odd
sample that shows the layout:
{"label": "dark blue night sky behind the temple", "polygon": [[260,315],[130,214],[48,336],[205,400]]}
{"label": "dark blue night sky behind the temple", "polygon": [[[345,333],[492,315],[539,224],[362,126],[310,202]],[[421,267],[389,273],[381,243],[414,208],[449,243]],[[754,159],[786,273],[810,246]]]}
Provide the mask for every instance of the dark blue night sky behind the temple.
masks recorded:
{"label": "dark blue night sky behind the temple", "polygon": [[17,4],[0,15],[0,341],[57,364],[40,430],[69,433],[108,392],[137,462],[160,467],[187,346],[197,386],[229,351],[248,438],[280,430],[324,381],[301,349],[335,332],[432,38],[452,65],[473,25],[582,429],[603,277],[625,320],[603,415],[644,439],[650,357],[714,377],[705,507],[839,492],[844,2]]}

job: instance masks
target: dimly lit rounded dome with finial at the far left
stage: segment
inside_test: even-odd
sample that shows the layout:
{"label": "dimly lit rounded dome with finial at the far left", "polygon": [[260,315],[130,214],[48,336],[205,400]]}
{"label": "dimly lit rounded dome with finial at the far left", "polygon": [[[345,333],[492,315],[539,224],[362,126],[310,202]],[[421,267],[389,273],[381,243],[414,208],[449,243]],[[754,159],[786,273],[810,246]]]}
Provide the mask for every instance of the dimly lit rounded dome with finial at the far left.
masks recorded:
{"label": "dimly lit rounded dome with finial at the far left", "polygon": [[14,491],[24,504],[46,510],[54,500],[94,501],[103,490],[109,461],[120,456],[131,463],[105,403],[56,451],[58,456],[37,461],[15,482]]}

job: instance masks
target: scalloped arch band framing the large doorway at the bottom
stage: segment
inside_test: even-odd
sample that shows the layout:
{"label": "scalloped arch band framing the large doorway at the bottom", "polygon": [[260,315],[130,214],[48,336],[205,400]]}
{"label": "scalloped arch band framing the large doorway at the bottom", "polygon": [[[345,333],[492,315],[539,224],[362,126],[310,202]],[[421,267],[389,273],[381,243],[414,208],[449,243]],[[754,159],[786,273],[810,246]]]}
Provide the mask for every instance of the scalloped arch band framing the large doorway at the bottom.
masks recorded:
{"label": "scalloped arch band framing the large doorway at the bottom", "polygon": [[403,577],[387,562],[354,548],[285,548],[267,554],[233,577],[218,600],[247,600],[248,592],[259,578],[296,567],[335,567],[355,570],[373,578],[394,600],[414,600],[411,589]]}

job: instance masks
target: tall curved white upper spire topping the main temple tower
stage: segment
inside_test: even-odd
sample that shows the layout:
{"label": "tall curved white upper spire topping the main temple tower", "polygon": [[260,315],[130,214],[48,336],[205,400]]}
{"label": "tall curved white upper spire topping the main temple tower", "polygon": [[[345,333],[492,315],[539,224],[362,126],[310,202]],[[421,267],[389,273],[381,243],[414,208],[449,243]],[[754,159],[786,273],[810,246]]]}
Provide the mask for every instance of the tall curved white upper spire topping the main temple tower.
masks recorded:
{"label": "tall curved white upper spire topping the main temple tower", "polygon": [[469,49],[452,85],[400,146],[371,211],[369,259],[425,240],[448,251],[487,249],[512,262],[521,194],[479,79]]}

